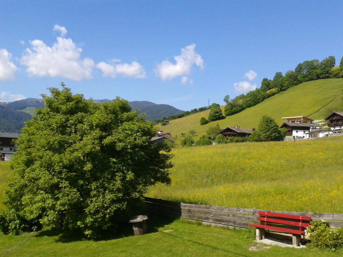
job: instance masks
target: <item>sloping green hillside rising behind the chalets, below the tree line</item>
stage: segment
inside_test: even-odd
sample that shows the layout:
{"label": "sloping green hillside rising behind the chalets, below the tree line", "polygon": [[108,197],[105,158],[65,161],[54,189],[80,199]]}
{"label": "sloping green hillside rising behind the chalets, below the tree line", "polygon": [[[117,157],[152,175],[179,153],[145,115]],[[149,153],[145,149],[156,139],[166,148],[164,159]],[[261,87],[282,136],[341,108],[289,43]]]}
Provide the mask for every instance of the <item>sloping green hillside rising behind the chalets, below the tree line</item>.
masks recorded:
{"label": "sloping green hillside rising behind the chalets, below the tree line", "polygon": [[[187,117],[170,121],[169,125],[161,127],[172,136],[181,137],[180,133],[188,134],[190,130],[202,135],[209,127],[217,123],[221,128],[240,126],[245,129],[257,127],[263,115],[269,115],[277,123],[282,124],[282,117],[307,116],[320,120],[324,119],[324,112],[330,107],[343,107],[342,101],[343,78],[319,79],[301,83],[265,99],[256,106],[247,108],[237,114],[226,117],[224,120],[200,125],[201,117],[207,118],[210,110],[195,113]],[[224,110],[225,106],[222,106]],[[194,139],[197,137],[194,136]]]}

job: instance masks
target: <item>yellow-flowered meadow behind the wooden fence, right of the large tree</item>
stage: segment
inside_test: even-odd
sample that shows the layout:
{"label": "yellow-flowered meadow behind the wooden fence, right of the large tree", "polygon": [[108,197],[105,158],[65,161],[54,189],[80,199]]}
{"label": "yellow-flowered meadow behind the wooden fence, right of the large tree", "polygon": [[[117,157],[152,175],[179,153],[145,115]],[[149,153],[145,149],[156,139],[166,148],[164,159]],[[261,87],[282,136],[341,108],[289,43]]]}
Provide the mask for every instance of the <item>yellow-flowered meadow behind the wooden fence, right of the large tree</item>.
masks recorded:
{"label": "yellow-flowered meadow behind the wooden fence, right of the large tree", "polygon": [[174,148],[171,185],[146,196],[280,211],[343,212],[343,136]]}

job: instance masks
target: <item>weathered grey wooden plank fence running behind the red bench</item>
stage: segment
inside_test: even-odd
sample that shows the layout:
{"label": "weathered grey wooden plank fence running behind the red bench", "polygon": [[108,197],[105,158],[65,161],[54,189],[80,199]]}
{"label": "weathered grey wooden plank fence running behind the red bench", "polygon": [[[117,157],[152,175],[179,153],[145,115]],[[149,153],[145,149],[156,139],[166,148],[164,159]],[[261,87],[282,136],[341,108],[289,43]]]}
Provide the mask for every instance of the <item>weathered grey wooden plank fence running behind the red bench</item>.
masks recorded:
{"label": "weathered grey wooden plank fence running behind the red bench", "polygon": [[176,218],[182,217],[188,220],[199,220],[202,223],[216,226],[248,228],[248,224],[260,223],[260,221],[257,220],[257,217],[259,217],[258,211],[269,211],[298,216],[309,216],[312,219],[327,220],[330,222],[332,229],[343,227],[343,213],[273,211],[184,204],[150,197],[145,197],[145,201],[150,212]]}

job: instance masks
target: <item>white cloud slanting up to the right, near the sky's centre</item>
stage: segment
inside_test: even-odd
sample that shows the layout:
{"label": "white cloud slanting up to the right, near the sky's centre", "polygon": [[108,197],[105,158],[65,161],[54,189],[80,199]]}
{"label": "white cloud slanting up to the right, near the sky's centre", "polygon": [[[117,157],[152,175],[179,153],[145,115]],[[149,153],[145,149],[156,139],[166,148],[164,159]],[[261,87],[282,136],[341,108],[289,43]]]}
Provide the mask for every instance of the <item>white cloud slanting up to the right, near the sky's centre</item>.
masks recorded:
{"label": "white cloud slanting up to the right, near the sky's centre", "polygon": [[165,81],[177,76],[190,74],[190,69],[194,64],[204,69],[204,60],[201,59],[200,54],[196,53],[194,49],[195,44],[182,48],[181,55],[174,57],[176,64],[165,60],[156,66],[156,74]]}

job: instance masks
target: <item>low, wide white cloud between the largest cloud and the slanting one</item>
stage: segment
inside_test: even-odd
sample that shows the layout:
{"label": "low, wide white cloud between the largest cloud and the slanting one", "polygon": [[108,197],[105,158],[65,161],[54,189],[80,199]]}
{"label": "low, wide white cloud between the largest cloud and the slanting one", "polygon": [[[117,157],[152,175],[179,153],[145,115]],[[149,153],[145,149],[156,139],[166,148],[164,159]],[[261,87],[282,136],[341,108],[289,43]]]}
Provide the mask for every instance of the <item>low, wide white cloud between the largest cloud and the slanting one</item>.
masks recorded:
{"label": "low, wide white cloud between the largest cloud and the slanting one", "polygon": [[145,70],[142,65],[134,61],[129,63],[115,64],[120,62],[119,59],[111,60],[112,64],[106,62],[99,62],[96,65],[96,68],[103,72],[104,77],[113,77],[115,78],[118,74],[126,77],[135,77],[135,78],[145,78]]}

